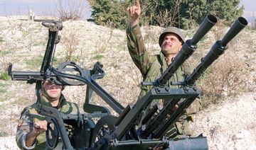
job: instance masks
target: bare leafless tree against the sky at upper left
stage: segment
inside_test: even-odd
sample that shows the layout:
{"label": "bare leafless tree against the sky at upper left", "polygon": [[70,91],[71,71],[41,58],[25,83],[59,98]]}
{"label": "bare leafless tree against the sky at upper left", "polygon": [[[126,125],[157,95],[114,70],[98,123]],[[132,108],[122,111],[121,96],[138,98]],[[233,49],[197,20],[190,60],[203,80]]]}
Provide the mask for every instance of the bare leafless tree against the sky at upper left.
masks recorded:
{"label": "bare leafless tree against the sky at upper left", "polygon": [[86,0],[54,0],[61,21],[80,20],[89,11]]}

